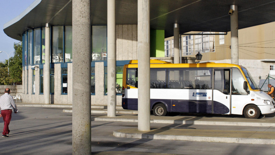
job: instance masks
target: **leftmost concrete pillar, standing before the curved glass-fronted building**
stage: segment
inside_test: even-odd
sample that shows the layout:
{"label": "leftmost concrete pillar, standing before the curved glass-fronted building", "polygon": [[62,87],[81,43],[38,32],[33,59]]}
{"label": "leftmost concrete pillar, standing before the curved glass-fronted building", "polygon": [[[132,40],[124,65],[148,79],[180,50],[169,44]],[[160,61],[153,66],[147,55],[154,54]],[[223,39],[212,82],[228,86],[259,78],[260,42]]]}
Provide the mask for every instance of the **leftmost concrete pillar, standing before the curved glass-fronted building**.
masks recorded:
{"label": "leftmost concrete pillar, standing before the curved glass-fronted building", "polygon": [[43,96],[45,104],[50,104],[50,24],[45,25],[45,64],[43,68]]}

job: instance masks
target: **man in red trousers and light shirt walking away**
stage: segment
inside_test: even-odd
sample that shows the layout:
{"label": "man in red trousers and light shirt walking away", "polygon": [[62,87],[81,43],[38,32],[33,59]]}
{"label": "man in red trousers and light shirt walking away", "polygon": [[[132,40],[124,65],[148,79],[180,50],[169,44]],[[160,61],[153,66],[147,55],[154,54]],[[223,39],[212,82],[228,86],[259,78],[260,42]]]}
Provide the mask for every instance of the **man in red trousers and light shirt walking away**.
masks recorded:
{"label": "man in red trousers and light shirt walking away", "polygon": [[4,120],[4,129],[2,137],[9,137],[9,122],[11,120],[12,109],[14,113],[17,113],[16,104],[13,101],[13,97],[9,95],[10,89],[5,89],[5,94],[0,97],[0,117]]}

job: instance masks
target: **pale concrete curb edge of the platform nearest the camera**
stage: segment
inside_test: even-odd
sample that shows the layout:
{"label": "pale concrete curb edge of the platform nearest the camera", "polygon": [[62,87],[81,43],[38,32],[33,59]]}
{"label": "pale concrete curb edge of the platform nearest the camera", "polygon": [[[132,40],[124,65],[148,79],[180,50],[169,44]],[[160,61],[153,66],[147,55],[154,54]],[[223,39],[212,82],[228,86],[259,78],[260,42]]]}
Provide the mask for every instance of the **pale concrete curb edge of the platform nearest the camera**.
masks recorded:
{"label": "pale concrete curb edge of the platform nearest the camera", "polygon": [[139,139],[161,139],[161,140],[182,140],[196,142],[225,142],[243,144],[275,144],[275,139],[260,138],[238,138],[238,137],[206,137],[206,136],[186,136],[186,135],[162,135],[145,133],[126,133],[114,131],[113,136],[120,138],[139,138]]}

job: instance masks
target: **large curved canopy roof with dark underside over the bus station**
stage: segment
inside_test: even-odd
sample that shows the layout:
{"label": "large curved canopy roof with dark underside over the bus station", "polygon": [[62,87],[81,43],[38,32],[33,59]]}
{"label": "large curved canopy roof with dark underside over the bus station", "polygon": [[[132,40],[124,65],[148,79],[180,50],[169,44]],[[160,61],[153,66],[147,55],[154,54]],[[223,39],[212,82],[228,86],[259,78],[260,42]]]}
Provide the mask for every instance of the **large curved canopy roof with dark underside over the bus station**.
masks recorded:
{"label": "large curved canopy roof with dark underside over the bus station", "polygon": [[[190,31],[229,32],[230,5],[238,6],[239,29],[275,21],[273,0],[150,0],[151,29],[173,36],[174,23],[180,33]],[[107,0],[91,0],[93,25],[107,24]],[[4,32],[22,40],[28,28],[71,25],[72,0],[35,0],[23,13],[4,25]],[[137,0],[116,0],[116,24],[137,24]]]}

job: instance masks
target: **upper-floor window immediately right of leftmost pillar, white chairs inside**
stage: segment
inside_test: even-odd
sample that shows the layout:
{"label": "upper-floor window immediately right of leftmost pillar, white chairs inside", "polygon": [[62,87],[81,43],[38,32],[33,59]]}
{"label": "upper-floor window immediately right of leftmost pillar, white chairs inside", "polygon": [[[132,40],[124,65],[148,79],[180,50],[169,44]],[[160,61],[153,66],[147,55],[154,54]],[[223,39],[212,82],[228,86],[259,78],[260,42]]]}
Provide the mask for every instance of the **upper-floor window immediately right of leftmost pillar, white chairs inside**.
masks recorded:
{"label": "upper-floor window immediately right of leftmost pillar, white chairs inside", "polygon": [[52,27],[52,62],[63,61],[63,26]]}

